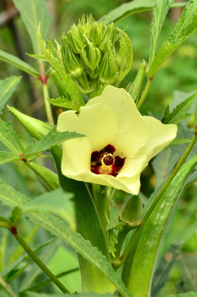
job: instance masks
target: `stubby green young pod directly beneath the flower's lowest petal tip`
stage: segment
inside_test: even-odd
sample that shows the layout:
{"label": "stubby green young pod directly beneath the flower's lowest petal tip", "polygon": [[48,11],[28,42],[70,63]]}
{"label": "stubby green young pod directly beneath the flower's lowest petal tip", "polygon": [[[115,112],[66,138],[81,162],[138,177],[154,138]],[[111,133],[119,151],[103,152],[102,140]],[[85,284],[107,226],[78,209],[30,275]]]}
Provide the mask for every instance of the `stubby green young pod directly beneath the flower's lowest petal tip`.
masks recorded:
{"label": "stubby green young pod directly beneath the flower's lowest petal tip", "polygon": [[125,221],[124,230],[132,230],[137,228],[141,223],[142,201],[137,196],[130,196],[124,205],[124,209],[120,212],[119,221]]}

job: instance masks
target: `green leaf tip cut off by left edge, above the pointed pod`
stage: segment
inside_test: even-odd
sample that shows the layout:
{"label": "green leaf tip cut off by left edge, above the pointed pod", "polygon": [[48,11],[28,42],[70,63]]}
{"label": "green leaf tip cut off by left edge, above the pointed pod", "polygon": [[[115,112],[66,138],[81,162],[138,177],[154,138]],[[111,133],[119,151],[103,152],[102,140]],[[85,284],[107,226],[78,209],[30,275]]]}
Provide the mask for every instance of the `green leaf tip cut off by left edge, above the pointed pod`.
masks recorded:
{"label": "green leaf tip cut off by left edge, above the pointed pod", "polygon": [[11,97],[12,93],[15,91],[15,87],[21,81],[22,76],[10,76],[3,80],[0,79],[0,114],[8,99]]}

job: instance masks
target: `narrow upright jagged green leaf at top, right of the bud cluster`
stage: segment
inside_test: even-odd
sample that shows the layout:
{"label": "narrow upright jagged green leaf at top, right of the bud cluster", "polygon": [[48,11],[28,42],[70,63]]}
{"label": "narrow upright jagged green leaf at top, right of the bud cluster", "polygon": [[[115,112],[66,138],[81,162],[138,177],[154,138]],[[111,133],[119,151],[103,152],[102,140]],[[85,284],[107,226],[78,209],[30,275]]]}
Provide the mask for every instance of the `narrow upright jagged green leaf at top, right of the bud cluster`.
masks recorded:
{"label": "narrow upright jagged green leaf at top, right of the bud cluster", "polygon": [[156,0],[155,6],[153,8],[153,20],[151,22],[151,48],[149,68],[151,67],[153,59],[155,58],[155,52],[161,27],[168,13],[170,5],[173,1],[174,0]]}

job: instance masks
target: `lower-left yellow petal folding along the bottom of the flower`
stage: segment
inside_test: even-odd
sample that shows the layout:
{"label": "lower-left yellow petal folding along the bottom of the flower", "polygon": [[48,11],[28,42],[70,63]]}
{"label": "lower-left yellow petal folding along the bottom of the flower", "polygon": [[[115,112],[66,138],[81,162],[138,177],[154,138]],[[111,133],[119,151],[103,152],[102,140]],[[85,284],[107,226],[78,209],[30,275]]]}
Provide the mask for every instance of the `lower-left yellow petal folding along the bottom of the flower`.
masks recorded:
{"label": "lower-left yellow petal folding along the bottom of the flower", "polygon": [[91,144],[87,137],[73,138],[62,143],[62,174],[78,181],[106,185],[137,195],[140,189],[140,174],[120,178],[106,174],[94,174],[90,169]]}

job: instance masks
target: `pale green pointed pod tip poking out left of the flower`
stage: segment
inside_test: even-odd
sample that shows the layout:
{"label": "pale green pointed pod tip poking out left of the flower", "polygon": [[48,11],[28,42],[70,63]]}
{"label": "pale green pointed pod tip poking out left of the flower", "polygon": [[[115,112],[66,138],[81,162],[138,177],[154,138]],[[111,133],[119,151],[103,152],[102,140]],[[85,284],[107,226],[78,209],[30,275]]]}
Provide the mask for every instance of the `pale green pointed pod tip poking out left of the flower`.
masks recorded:
{"label": "pale green pointed pod tip poking out left of the flower", "polygon": [[32,118],[29,115],[24,115],[14,107],[8,106],[9,112],[17,118],[21,125],[27,130],[27,132],[36,140],[40,140],[47,135],[53,126],[44,123],[36,118]]}

